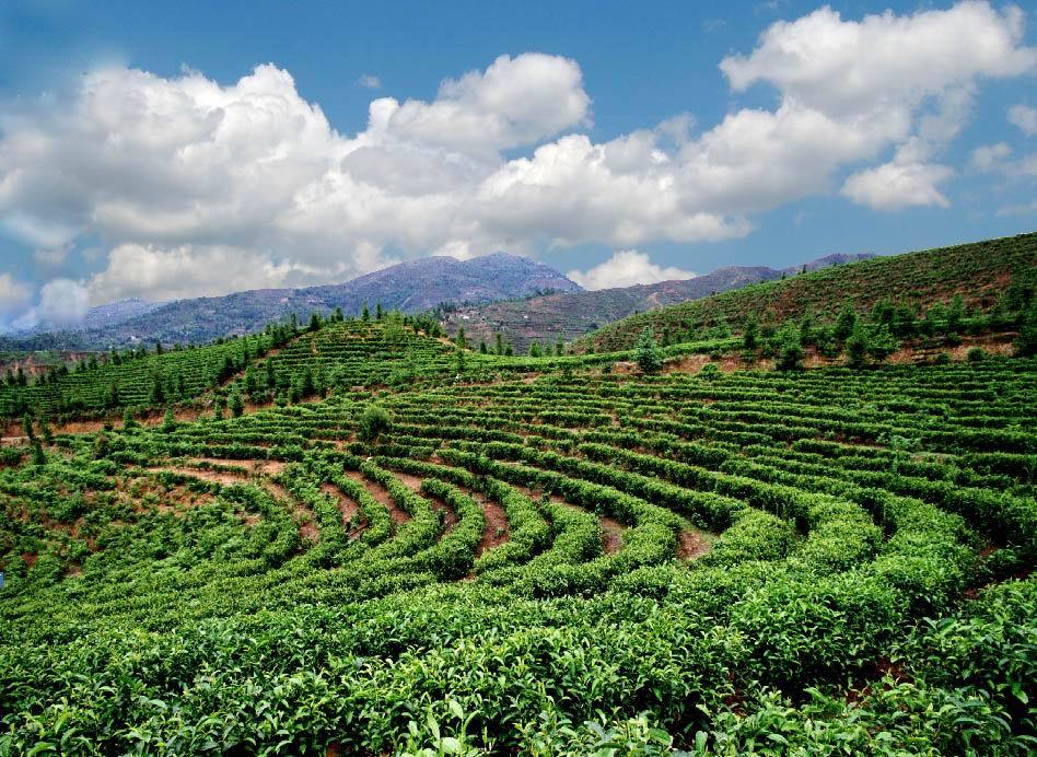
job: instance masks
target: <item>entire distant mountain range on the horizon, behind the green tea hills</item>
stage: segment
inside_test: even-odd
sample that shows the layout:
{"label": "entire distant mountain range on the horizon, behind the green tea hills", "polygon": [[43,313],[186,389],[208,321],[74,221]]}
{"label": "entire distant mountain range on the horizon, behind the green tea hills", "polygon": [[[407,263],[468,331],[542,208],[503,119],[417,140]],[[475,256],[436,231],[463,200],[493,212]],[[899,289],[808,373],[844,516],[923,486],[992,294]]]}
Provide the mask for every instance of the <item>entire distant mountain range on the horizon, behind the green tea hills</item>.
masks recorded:
{"label": "entire distant mountain range on the horizon, behind the green tea hills", "polygon": [[[525,351],[534,340],[571,340],[628,315],[709,296],[801,270],[873,257],[829,255],[787,269],[726,266],[687,280],[584,291],[550,266],[508,253],[467,260],[433,256],[389,266],[337,284],[300,289],[259,289],[222,296],[172,302],[123,300],[86,314],[74,330],[48,330],[0,337],[0,350],[104,350],[149,343],[203,343],[218,337],[261,330],[271,321],[295,314],[327,314],[341,307],[421,313],[435,308],[444,327],[464,326],[476,343],[497,333]],[[448,305],[447,305],[448,304]]]}

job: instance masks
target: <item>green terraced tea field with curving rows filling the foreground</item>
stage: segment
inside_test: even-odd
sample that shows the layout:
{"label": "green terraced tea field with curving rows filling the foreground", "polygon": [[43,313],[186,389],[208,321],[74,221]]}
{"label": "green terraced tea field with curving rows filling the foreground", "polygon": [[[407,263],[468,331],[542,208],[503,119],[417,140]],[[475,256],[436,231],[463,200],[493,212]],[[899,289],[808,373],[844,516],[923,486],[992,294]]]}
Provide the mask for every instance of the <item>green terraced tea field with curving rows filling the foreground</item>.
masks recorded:
{"label": "green terraced tea field with curving rows filling the foreground", "polygon": [[271,356],[323,400],[3,451],[0,754],[1037,744],[1037,360],[370,334]]}

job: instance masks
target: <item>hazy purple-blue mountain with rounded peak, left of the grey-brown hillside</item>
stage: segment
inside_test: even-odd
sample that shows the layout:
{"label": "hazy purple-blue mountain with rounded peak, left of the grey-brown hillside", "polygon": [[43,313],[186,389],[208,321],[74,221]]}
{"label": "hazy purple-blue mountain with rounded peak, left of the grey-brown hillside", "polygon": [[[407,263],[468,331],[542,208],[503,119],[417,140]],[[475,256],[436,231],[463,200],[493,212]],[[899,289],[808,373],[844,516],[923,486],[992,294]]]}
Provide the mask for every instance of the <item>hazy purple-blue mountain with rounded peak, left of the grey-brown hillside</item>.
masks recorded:
{"label": "hazy purple-blue mountain with rounded peak, left of the grey-brown hillside", "polygon": [[[555,269],[528,258],[494,253],[468,260],[429,257],[358,277],[339,284],[264,289],[164,304],[130,302],[94,308],[86,328],[0,338],[0,349],[106,350],[140,342],[202,343],[261,330],[290,314],[306,319],[340,307],[357,315],[366,303],[418,313],[441,302],[488,302],[548,290],[580,289]],[[136,308],[138,313],[133,313]]]}

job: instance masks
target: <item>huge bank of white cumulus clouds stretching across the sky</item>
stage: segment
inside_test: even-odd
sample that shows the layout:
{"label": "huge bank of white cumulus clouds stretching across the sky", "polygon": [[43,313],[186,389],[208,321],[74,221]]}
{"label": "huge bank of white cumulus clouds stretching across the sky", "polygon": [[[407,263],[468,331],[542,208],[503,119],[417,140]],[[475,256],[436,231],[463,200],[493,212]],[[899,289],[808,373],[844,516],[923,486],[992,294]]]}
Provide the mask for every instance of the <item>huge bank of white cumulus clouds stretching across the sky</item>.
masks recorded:
{"label": "huge bank of white cumulus clouds stretching across the sky", "polygon": [[721,62],[736,93],[773,88],[773,107],[606,141],[586,133],[579,65],[539,53],[430,101],[377,97],[354,135],[269,65],[231,84],[95,70],[71,96],[0,109],[0,223],[42,251],[102,245],[83,281],[97,304],[341,280],[433,252],[726,240],[850,167],[852,201],[946,206],[940,153],[979,84],[1037,66],[1022,33],[1022,12],[988,3],[861,21],[824,8]]}

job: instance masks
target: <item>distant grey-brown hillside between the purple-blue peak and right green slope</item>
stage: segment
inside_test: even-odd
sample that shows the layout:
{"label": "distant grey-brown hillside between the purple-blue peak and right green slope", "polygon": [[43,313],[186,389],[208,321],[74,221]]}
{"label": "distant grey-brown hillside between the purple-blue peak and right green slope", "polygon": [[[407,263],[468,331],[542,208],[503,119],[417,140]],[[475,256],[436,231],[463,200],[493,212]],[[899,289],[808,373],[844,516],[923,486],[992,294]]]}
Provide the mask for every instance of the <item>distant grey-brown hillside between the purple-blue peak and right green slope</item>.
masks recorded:
{"label": "distant grey-brown hillside between the purple-blue peak and right green slope", "polygon": [[476,343],[486,340],[490,345],[500,334],[505,342],[514,346],[515,351],[525,353],[534,341],[541,345],[554,343],[558,338],[571,341],[634,313],[654,311],[750,283],[772,281],[802,270],[817,270],[871,257],[874,256],[866,253],[836,254],[785,269],[725,266],[691,279],[492,302],[453,308],[440,314],[440,317],[450,334],[456,334],[457,328],[464,326],[468,337]]}

